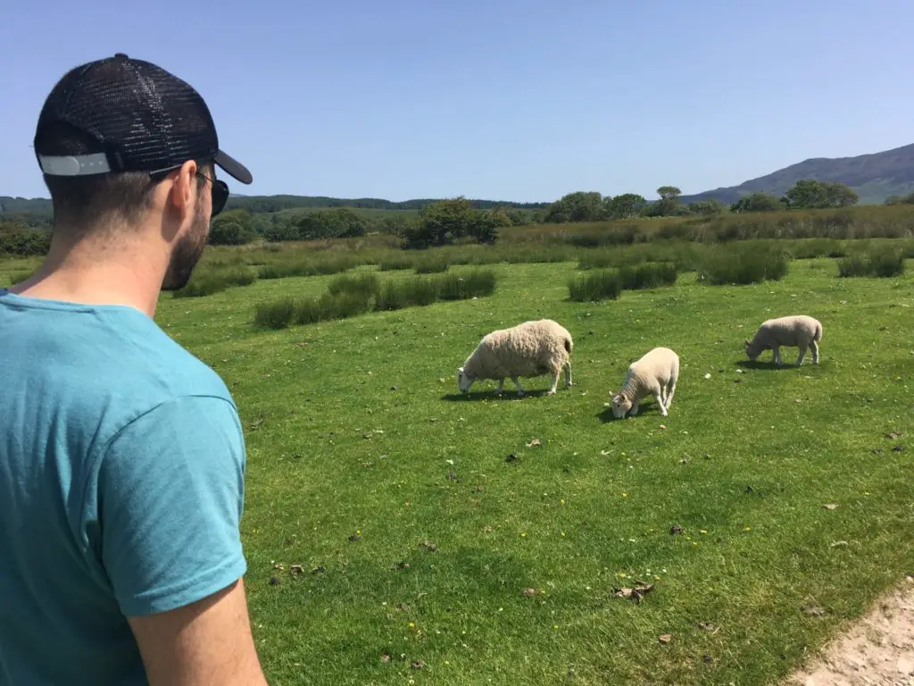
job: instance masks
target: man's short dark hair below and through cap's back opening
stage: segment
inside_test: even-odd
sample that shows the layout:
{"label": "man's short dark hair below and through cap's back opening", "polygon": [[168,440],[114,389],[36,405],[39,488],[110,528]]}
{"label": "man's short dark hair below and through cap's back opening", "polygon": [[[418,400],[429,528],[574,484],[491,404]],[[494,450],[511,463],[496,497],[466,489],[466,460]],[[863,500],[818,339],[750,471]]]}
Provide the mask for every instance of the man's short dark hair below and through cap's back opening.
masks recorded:
{"label": "man's short dark hair below and through cap's back opening", "polygon": [[[58,155],[87,155],[97,151],[89,136],[66,123],[55,123],[42,132],[42,146],[52,145]],[[205,171],[211,165],[201,165]],[[86,177],[43,175],[54,208],[54,226],[79,233],[93,227],[125,223],[135,225],[149,209],[158,183],[145,172],[98,174]],[[206,180],[197,177],[197,189]]]}

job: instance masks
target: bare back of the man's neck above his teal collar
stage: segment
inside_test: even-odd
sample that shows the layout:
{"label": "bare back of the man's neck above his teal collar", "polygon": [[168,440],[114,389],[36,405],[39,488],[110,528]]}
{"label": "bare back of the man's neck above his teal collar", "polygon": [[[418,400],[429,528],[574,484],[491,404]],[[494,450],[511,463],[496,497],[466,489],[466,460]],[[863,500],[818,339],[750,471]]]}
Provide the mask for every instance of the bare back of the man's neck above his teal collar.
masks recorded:
{"label": "bare back of the man's neck above his teal collar", "polygon": [[135,245],[52,243],[45,262],[9,292],[81,305],[127,305],[153,317],[165,271],[157,262]]}

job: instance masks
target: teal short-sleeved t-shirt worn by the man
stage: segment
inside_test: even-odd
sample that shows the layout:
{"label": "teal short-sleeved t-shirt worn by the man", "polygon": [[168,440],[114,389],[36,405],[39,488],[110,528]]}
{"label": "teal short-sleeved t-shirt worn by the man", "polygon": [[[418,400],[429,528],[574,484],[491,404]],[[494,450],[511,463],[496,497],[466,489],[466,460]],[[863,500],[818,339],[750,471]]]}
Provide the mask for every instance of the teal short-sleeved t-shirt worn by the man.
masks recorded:
{"label": "teal short-sleeved t-shirt worn by the man", "polygon": [[139,310],[0,289],[0,684],[144,684],[125,616],[241,577],[244,438]]}

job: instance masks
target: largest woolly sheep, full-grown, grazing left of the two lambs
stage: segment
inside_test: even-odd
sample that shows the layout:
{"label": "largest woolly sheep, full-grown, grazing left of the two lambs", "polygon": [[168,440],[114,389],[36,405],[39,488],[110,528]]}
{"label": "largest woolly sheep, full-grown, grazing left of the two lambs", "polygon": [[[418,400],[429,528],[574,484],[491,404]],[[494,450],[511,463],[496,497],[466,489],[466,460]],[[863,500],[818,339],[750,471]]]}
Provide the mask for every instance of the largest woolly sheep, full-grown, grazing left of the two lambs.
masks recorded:
{"label": "largest woolly sheep, full-grown, grazing left of the two lambs", "polygon": [[517,395],[524,396],[518,377],[552,375],[548,395],[556,392],[558,374],[565,370],[565,387],[571,385],[571,334],[551,319],[539,319],[502,328],[486,334],[457,370],[457,383],[461,392],[470,390],[473,381],[492,379],[498,381],[500,395],[505,377],[514,381]]}

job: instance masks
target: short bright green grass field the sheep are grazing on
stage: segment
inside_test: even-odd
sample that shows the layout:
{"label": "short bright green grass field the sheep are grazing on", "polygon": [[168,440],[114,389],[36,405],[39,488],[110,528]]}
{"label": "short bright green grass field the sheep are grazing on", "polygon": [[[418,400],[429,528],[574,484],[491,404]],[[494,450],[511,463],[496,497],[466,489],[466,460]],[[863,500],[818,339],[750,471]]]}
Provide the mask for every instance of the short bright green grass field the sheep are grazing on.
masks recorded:
{"label": "short bright green grass field the sheep are grazing on", "polygon": [[[494,295],[282,331],[254,327],[256,305],[334,276],[163,296],[159,324],[239,404],[271,684],[788,673],[914,564],[914,276],[836,262],[743,286],[680,273],[602,304],[569,301],[576,262],[495,264]],[[0,263],[0,284],[35,264]],[[820,366],[744,361],[763,319],[800,312],[824,324]],[[479,338],[544,316],[575,338],[572,388],[457,391]],[[611,420],[608,391],[658,345],[682,360],[670,416]],[[641,583],[640,603],[615,595]]]}

